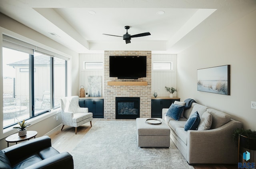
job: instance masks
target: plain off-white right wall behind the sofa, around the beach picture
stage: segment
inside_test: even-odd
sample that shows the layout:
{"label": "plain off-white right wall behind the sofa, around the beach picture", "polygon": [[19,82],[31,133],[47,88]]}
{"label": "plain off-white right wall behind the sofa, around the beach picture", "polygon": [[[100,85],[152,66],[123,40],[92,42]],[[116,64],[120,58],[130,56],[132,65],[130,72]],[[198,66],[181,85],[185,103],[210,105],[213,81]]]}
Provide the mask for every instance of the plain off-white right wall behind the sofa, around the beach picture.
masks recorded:
{"label": "plain off-white right wall behind the sofa, around the beach picture", "polygon": [[[181,100],[224,111],[256,130],[256,11],[177,55],[177,86]],[[230,64],[230,95],[197,91],[197,69]]]}

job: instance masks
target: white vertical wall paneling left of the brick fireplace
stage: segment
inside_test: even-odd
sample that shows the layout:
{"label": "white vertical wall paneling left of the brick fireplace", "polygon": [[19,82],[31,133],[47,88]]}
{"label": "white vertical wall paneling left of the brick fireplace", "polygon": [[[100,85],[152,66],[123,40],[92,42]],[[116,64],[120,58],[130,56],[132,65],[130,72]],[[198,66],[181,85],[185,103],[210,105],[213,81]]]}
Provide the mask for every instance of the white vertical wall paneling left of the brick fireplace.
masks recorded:
{"label": "white vertical wall paneling left of the brick fireplace", "polygon": [[102,69],[84,70],[84,62],[103,62],[104,65],[104,54],[79,55],[79,86],[83,85],[87,92],[88,76],[102,76],[102,96],[104,96],[104,66]]}

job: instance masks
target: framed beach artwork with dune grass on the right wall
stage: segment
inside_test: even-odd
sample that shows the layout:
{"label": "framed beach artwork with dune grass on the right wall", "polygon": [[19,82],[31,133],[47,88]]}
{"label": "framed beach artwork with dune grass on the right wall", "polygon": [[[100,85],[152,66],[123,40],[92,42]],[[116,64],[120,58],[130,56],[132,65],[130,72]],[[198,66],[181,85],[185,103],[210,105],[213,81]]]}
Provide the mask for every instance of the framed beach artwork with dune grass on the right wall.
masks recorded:
{"label": "framed beach artwork with dune grass on the right wall", "polygon": [[230,65],[198,69],[197,90],[230,95]]}

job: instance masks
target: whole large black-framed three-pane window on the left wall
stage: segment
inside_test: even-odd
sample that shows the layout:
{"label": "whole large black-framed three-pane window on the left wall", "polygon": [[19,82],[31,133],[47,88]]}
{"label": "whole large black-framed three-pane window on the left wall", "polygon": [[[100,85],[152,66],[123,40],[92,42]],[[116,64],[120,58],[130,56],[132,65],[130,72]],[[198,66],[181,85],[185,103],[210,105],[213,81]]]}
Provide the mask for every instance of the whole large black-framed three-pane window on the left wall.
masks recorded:
{"label": "whole large black-framed three-pane window on the left wall", "polygon": [[23,48],[18,40],[12,43],[13,38],[7,43],[6,38],[3,36],[2,55],[4,128],[59,107],[58,99],[66,96],[67,84],[66,60],[33,46]]}

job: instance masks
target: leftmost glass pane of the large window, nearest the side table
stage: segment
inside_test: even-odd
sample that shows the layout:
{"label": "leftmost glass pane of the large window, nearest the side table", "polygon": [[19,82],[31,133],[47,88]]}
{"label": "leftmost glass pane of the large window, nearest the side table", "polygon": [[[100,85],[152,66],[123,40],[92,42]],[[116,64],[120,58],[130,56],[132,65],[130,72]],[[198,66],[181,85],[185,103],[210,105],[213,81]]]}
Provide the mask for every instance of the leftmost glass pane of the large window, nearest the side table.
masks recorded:
{"label": "leftmost glass pane of the large window, nearest the side table", "polygon": [[[29,54],[3,48],[4,127],[29,117]],[[26,64],[24,64],[26,62]]]}

